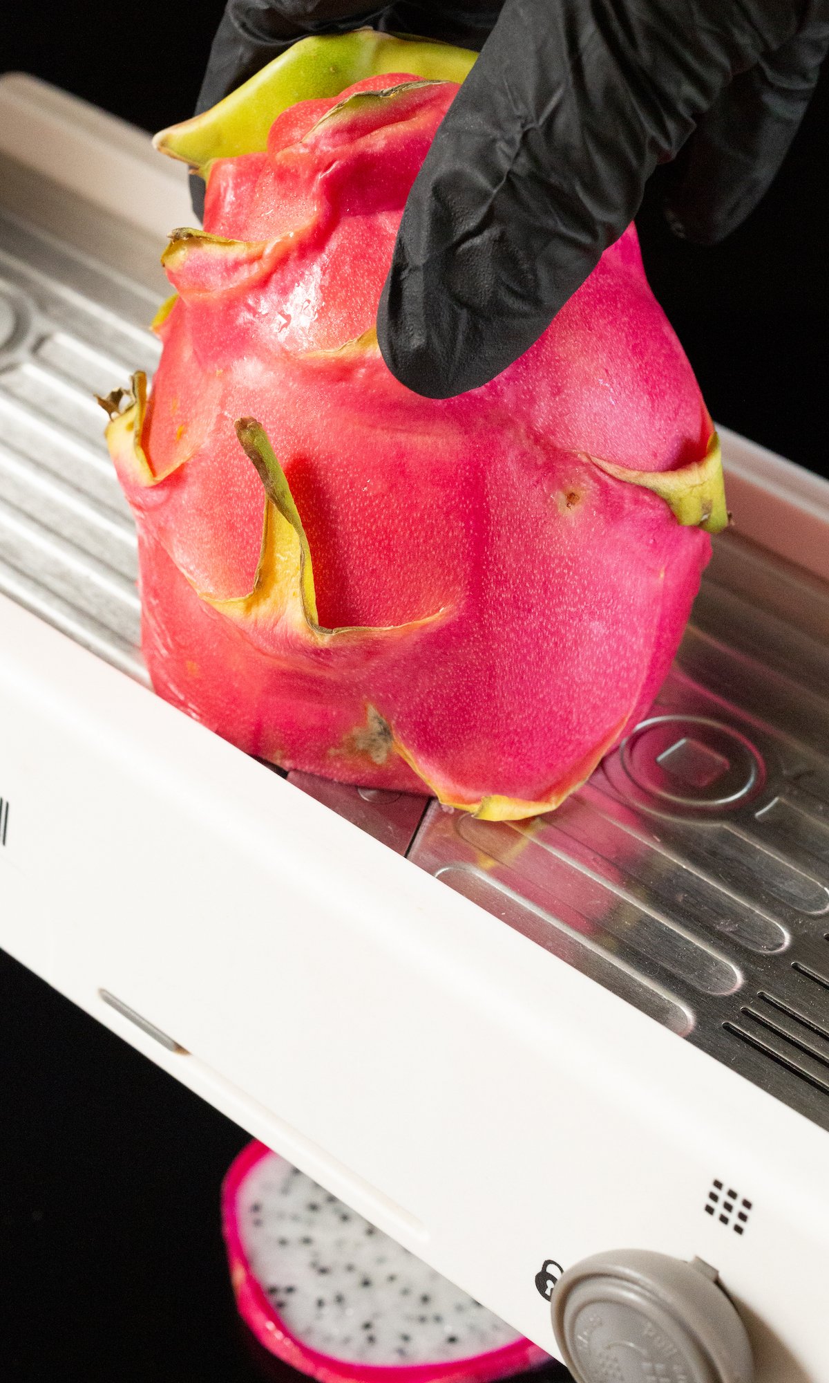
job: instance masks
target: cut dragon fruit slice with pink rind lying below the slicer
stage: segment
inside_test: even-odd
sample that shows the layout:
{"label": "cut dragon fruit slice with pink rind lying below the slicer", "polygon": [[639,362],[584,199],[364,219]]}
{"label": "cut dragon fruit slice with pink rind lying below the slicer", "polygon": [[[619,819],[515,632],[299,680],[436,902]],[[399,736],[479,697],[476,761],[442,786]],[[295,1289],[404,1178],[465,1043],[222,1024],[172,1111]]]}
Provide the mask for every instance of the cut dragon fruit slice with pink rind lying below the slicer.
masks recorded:
{"label": "cut dragon fruit slice with pink rind lying below the slicer", "polygon": [[488,1383],[550,1359],[261,1142],[225,1177],[222,1232],[242,1318],[319,1383]]}

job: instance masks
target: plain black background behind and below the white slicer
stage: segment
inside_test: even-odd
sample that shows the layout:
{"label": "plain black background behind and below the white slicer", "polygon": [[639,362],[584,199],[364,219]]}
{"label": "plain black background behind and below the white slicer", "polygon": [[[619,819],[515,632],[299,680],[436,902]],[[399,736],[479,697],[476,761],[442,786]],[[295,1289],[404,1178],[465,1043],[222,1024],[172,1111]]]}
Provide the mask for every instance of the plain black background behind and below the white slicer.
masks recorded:
{"label": "plain black background behind and below the white slicer", "polygon": [[[0,69],[159,129],[189,113],[222,6],[4,8]],[[724,245],[674,241],[658,187],[640,216],[713,416],[823,474],[828,116],[829,73],[771,194]],[[3,1377],[287,1380],[238,1326],[227,1285],[218,1185],[245,1141],[0,953]]]}

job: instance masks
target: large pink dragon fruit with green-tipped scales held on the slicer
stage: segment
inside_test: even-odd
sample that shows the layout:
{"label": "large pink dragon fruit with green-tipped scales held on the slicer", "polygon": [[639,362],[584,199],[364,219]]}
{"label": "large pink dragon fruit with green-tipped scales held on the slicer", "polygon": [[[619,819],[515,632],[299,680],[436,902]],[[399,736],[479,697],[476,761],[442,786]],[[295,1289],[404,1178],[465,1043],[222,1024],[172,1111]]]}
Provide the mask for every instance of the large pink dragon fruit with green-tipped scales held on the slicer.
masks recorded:
{"label": "large pink dragon fruit with green-tipped scales held on the slicer", "polygon": [[397,228],[473,59],[308,39],[159,136],[204,230],[163,256],[152,394],[102,402],[156,690],[285,769],[517,819],[647,709],[727,516],[633,227],[492,383],[387,369]]}

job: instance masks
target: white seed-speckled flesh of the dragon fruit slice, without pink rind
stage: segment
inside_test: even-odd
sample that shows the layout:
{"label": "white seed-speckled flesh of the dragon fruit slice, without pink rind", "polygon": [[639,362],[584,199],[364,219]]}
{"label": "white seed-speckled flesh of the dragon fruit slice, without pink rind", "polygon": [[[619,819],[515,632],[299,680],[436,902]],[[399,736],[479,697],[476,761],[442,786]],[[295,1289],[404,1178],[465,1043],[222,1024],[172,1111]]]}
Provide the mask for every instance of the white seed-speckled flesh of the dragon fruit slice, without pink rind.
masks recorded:
{"label": "white seed-speckled flesh of the dragon fruit slice, without pink rind", "polygon": [[363,1365],[442,1364],[521,1339],[275,1155],[245,1177],[238,1228],[272,1308],[321,1354]]}

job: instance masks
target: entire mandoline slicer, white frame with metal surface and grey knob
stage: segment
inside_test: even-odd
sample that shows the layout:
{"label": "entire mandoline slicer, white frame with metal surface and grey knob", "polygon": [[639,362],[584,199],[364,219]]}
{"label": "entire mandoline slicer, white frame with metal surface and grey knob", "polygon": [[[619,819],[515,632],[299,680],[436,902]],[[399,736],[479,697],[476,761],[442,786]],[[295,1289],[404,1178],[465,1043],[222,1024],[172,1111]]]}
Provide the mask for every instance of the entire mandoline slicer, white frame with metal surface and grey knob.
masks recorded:
{"label": "entire mandoline slicer, white frame with metal surface and grey knob", "polygon": [[724,434],[673,672],[554,815],[285,781],[148,690],[93,401],[182,170],[19,76],[0,149],[0,943],[582,1383],[829,1383],[829,485]]}

